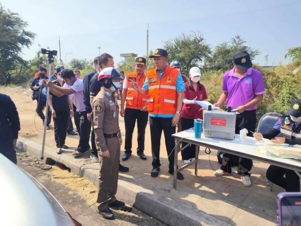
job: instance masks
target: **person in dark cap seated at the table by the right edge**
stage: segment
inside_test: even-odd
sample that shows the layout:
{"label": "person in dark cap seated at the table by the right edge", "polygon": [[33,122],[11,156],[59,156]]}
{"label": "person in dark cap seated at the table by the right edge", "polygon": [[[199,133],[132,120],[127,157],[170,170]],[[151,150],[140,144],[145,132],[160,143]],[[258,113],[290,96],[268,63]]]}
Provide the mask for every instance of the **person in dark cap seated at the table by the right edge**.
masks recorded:
{"label": "person in dark cap seated at the table by the right edge", "polygon": [[[276,137],[279,133],[281,136]],[[301,145],[301,99],[291,102],[286,116],[280,117],[270,132],[263,135],[255,133],[253,136],[256,140],[261,140],[262,137],[275,138],[271,141],[277,144]],[[266,177],[270,182],[283,187],[286,192],[300,191],[300,178],[293,170],[270,165]]]}

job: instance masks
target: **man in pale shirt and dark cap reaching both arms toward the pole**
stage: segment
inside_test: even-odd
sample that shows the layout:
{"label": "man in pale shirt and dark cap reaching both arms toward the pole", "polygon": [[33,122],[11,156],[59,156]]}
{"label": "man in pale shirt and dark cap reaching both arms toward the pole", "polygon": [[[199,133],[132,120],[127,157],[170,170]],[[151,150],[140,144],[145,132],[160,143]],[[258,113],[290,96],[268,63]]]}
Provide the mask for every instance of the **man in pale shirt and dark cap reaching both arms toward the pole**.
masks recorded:
{"label": "man in pale shirt and dark cap reaching both arms toward the pole", "polygon": [[86,107],[83,99],[83,80],[75,77],[74,72],[70,69],[64,69],[60,75],[65,84],[63,87],[57,86],[52,82],[44,81],[50,91],[57,96],[69,95],[69,105],[72,111],[72,103],[76,106],[74,115],[74,122],[79,133],[79,144],[75,152],[72,153],[74,157],[81,156],[84,152],[90,150],[90,122],[87,119]]}

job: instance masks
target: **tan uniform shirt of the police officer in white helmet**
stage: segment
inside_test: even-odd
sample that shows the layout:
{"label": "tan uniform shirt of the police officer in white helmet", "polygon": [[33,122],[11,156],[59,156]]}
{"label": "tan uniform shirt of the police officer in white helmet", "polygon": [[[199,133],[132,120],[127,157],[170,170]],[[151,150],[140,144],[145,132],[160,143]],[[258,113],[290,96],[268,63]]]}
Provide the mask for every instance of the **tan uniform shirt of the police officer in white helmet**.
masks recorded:
{"label": "tan uniform shirt of the police officer in white helmet", "polygon": [[119,106],[112,93],[102,88],[93,100],[93,126],[97,152],[105,152],[107,146],[103,134],[121,133],[118,125]]}

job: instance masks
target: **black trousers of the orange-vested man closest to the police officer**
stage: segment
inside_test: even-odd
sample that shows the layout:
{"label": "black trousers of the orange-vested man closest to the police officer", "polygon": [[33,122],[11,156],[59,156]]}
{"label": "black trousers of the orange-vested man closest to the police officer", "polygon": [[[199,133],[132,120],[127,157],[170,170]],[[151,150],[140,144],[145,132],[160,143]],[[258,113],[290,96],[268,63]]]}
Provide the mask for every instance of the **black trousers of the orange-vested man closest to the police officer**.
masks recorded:
{"label": "black trousers of the orange-vested man closest to the police officer", "polygon": [[144,138],[145,138],[145,128],[148,120],[148,111],[141,111],[139,109],[125,108],[124,113],[124,125],[125,125],[125,142],[124,149],[125,152],[131,153],[132,147],[132,137],[135,128],[135,123],[137,121],[138,129],[138,152],[144,151]]}

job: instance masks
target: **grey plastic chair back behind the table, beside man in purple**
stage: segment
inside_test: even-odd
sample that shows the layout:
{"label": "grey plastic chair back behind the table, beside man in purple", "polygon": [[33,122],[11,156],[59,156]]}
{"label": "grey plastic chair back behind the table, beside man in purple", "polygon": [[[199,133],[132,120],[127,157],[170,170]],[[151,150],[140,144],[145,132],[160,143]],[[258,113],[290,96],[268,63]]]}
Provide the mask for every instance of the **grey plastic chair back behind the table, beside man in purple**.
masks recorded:
{"label": "grey plastic chair back behind the table, beside man in purple", "polygon": [[[281,116],[277,112],[269,112],[263,115],[258,122],[257,132],[262,134],[269,132]],[[268,181],[268,185],[270,186],[270,191],[272,191],[273,183]]]}

